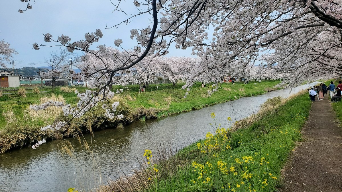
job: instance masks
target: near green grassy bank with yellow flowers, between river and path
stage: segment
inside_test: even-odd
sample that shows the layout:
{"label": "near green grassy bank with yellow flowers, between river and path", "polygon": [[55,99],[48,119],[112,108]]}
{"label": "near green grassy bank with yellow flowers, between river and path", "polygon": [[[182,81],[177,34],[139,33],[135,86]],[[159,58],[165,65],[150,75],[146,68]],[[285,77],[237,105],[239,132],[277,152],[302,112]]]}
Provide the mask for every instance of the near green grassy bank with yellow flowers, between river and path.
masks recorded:
{"label": "near green grassy bank with yellow flowers, between river and path", "polygon": [[[279,100],[279,98],[278,98]],[[269,101],[278,105],[279,101]],[[232,132],[220,127],[212,114],[216,133],[154,164],[160,152],[145,151],[138,175],[121,178],[103,191],[233,191],[269,192],[279,184],[284,166],[309,114],[307,94],[290,99],[250,126]],[[229,118],[228,118],[229,121]],[[168,155],[165,155],[168,156]],[[149,157],[149,158],[147,158]],[[149,164],[146,164],[149,162]],[[280,187],[280,186],[277,186]]]}

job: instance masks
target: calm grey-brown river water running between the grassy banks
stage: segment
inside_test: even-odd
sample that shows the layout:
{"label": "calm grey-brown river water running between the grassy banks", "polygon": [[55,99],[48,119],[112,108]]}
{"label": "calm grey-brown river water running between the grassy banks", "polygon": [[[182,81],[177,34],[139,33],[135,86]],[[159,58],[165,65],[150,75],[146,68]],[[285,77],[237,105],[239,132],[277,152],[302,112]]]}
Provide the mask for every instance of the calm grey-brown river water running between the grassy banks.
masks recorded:
{"label": "calm grey-brown river water running between the grassy banks", "polygon": [[[107,179],[131,173],[131,165],[139,168],[136,156],[141,155],[144,149],[155,149],[156,143],[172,142],[177,146],[186,146],[205,138],[207,132],[214,132],[209,125],[213,123],[210,116],[212,112],[216,115],[216,122],[229,127],[228,116],[233,122],[240,120],[257,112],[260,104],[268,98],[288,97],[315,84],[243,97],[165,118],[133,122],[124,129],[95,132],[96,143],[93,141],[92,148],[94,158],[89,156],[84,146],[82,152],[75,138],[53,140],[36,150],[26,147],[0,154],[0,191],[66,192],[70,187],[90,191],[96,185],[106,184]],[[85,138],[89,143],[92,141],[90,134],[85,135]],[[67,154],[63,156],[57,146],[63,141],[69,141],[74,147],[72,158]]]}

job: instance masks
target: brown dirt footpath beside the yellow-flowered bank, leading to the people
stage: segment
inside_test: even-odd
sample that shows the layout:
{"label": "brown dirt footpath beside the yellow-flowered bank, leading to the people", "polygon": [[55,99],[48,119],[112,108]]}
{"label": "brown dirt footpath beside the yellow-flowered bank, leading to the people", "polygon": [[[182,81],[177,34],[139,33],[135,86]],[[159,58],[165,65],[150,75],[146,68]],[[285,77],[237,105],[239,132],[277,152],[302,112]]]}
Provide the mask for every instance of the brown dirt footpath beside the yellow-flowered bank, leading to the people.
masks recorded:
{"label": "brown dirt footpath beside the yellow-flowered bank, leading to the people", "polygon": [[312,104],[304,141],[282,172],[280,192],[342,192],[342,131],[327,98]]}

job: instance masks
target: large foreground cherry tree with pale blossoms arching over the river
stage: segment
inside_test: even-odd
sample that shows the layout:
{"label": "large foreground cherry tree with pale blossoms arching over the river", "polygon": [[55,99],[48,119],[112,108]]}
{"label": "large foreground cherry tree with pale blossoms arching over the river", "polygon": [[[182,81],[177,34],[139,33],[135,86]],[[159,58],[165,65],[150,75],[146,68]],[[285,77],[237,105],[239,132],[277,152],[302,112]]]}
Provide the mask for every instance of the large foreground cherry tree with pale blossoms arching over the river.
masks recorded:
{"label": "large foreground cherry tree with pale blossoms arching over the river", "polygon": [[[29,5],[29,1],[23,2]],[[120,3],[124,2],[119,0],[114,4],[114,11],[126,13]],[[287,83],[294,86],[341,73],[341,3],[341,0],[133,0],[137,12],[127,14],[126,20],[108,28],[118,28],[141,15],[150,15],[150,20],[145,28],[130,31],[136,46],[126,49],[121,39],[114,40],[114,45],[122,49],[119,57],[115,51],[107,51],[105,45],[97,46],[97,51],[91,49],[103,36],[99,29],[74,42],[66,35],[53,38],[45,33],[44,40],[50,44],[33,46],[36,50],[42,46],[62,46],[69,52],[85,52],[83,61],[92,58],[94,65],[84,68],[80,76],[93,79],[98,91],[86,94],[89,98],[83,99],[84,103],[79,105],[82,108],[75,110],[78,112],[96,105],[93,101],[105,100],[113,81],[127,83],[131,68],[146,74],[148,70],[148,73],[157,72],[148,69],[153,66],[170,69],[169,74],[182,70],[179,66],[173,69],[153,63],[153,59],[166,55],[171,45],[177,49],[190,48],[200,58],[200,62],[186,65],[185,71],[189,73],[183,73],[187,74],[183,76],[184,89],[188,90],[198,80],[219,83],[224,74],[249,77],[247,74],[259,62],[264,63],[263,70],[272,73],[271,77],[290,74]],[[149,78],[147,75],[146,79]]]}

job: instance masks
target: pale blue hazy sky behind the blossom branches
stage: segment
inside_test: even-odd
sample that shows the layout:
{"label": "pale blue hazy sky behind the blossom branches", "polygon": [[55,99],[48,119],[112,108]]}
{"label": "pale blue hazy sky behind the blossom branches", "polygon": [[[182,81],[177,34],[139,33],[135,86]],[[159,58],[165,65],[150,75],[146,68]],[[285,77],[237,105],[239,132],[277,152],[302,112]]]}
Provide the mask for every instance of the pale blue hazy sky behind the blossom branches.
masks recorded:
{"label": "pale blue hazy sky behind the blossom branches", "polygon": [[[112,2],[115,4],[117,1]],[[55,45],[44,41],[42,34],[47,32],[55,40],[59,35],[67,35],[73,42],[84,39],[86,32],[101,29],[103,37],[94,43],[91,49],[96,49],[99,44],[116,47],[115,39],[122,39],[121,46],[132,49],[136,41],[130,39],[130,30],[146,28],[149,25],[149,15],[144,15],[134,18],[128,25],[121,24],[117,29],[105,29],[106,25],[114,26],[129,17],[121,12],[112,13],[115,6],[110,0],[36,0],[36,4],[31,0],[30,5],[33,8],[19,13],[19,8],[24,9],[26,5],[27,3],[20,0],[0,1],[0,40],[10,43],[10,47],[19,53],[12,57],[16,61],[15,68],[47,66],[44,58],[49,58],[50,52],[57,51],[58,47],[41,46],[40,50],[32,49],[35,42]],[[133,0],[121,2],[120,7],[128,14],[136,12]],[[169,52],[168,56],[192,56],[191,48],[181,50],[172,46]],[[12,68],[12,64],[8,67]]]}

